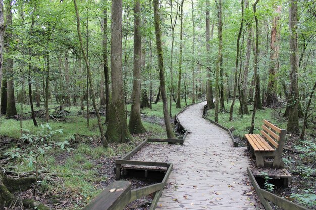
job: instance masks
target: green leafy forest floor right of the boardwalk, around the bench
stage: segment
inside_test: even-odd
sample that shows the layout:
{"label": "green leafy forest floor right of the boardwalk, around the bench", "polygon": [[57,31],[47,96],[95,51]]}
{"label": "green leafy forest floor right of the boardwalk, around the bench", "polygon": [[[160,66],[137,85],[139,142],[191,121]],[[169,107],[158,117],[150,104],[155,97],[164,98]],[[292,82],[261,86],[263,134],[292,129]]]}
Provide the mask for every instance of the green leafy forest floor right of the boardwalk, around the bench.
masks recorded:
{"label": "green leafy forest floor right of the boardwalk, around the bench", "polygon": [[[226,110],[229,110],[231,103],[225,104]],[[250,106],[249,106],[250,108]],[[244,134],[249,132],[251,124],[251,114],[238,115],[239,102],[234,106],[233,120],[229,121],[229,112],[219,113],[219,124],[230,128],[234,126],[233,135],[239,146],[246,146]],[[286,129],[287,119],[283,117],[285,108],[266,108],[257,110],[255,117],[254,133],[259,134],[262,126],[262,120],[270,120],[281,129]],[[214,118],[214,110],[207,113],[210,119]],[[315,116],[313,116],[315,118]],[[303,120],[299,124],[302,126]],[[289,181],[289,188],[274,189],[273,193],[294,201],[309,209],[316,209],[316,122],[312,120],[308,124],[305,139],[302,141],[299,136],[288,134],[285,141],[285,150],[283,152],[283,162],[285,168],[291,173],[292,179]],[[253,166],[255,166],[255,159]]]}

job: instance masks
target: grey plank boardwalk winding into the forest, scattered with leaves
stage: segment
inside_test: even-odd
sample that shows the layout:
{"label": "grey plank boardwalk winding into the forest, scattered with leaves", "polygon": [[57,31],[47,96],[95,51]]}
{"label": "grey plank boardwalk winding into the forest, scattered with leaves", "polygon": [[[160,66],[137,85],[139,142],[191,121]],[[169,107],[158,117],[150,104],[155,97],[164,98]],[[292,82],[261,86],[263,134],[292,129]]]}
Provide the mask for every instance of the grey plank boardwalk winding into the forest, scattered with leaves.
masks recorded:
{"label": "grey plank boardwalk winding into the forest, scattered with leaves", "polygon": [[246,148],[233,147],[226,131],[202,118],[204,105],[178,116],[190,132],[183,145],[148,144],[132,158],[174,163],[157,209],[260,209],[246,172]]}

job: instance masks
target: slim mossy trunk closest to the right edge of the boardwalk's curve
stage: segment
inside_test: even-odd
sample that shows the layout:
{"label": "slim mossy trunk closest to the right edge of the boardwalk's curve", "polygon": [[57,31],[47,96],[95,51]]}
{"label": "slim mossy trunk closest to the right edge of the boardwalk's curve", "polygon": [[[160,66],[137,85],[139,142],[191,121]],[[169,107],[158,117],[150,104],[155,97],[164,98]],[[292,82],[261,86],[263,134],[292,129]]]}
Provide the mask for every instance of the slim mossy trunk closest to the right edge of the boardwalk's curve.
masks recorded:
{"label": "slim mossy trunk closest to the right edge of the boardwalk's curve", "polygon": [[[219,39],[219,50],[218,57],[216,60],[216,71],[215,71],[215,111],[214,111],[214,121],[218,122],[218,114],[219,114],[219,73],[221,68],[221,60],[222,60],[222,49],[223,49],[223,41],[222,41],[222,0],[215,0],[217,9],[218,9],[218,39]],[[218,3],[219,2],[219,3]]]}

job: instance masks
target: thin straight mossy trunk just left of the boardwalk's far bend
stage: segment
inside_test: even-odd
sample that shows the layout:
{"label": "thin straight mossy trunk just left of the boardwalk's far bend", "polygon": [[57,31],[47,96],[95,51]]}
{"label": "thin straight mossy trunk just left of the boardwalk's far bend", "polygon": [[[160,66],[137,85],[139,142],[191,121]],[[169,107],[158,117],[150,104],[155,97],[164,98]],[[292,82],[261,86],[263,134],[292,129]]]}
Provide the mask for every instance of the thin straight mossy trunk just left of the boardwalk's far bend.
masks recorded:
{"label": "thin straight mossy trunk just left of the boardwalk's far bend", "polygon": [[181,1],[181,14],[180,14],[180,52],[179,52],[179,72],[178,72],[178,92],[177,92],[177,107],[181,108],[181,71],[182,71],[182,48],[183,48],[183,3]]}

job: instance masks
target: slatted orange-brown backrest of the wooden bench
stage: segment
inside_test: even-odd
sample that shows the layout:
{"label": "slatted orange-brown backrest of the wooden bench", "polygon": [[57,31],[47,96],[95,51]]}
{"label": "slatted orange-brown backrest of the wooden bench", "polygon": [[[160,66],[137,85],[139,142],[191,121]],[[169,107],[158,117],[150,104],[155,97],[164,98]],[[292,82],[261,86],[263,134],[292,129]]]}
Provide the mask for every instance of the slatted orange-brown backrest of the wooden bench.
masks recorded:
{"label": "slatted orange-brown backrest of the wooden bench", "polygon": [[273,125],[267,120],[264,120],[264,124],[262,125],[261,130],[262,137],[264,137],[270,145],[278,148],[280,140],[282,140],[282,144],[285,138],[286,130],[280,129],[277,126]]}

